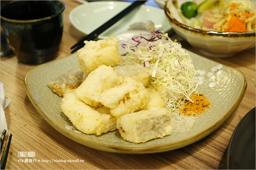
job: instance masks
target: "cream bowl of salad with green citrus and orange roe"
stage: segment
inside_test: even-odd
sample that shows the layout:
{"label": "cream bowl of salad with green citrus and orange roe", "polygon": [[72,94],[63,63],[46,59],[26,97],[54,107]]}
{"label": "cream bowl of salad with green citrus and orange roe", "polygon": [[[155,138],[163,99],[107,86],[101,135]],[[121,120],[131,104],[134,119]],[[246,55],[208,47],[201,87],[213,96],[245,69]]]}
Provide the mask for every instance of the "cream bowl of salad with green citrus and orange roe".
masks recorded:
{"label": "cream bowl of salad with green citrus and orange roe", "polygon": [[167,1],[172,29],[210,57],[255,47],[255,1]]}

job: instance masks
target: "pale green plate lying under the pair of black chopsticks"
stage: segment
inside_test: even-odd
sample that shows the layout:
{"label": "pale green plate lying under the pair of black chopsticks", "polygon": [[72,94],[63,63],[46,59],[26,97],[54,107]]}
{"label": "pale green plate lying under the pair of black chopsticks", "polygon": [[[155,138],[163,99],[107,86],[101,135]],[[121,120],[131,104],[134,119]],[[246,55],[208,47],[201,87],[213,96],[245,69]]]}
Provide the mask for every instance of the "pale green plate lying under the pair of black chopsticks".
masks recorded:
{"label": "pale green plate lying under the pair of black chopsticks", "polygon": [[[122,1],[95,1],[81,4],[70,12],[69,20],[77,30],[84,34],[89,34],[130,4]],[[128,30],[134,23],[148,20],[154,23],[155,30],[159,29],[166,33],[171,29],[164,10],[141,5],[101,33],[98,38],[108,39],[111,36]]]}

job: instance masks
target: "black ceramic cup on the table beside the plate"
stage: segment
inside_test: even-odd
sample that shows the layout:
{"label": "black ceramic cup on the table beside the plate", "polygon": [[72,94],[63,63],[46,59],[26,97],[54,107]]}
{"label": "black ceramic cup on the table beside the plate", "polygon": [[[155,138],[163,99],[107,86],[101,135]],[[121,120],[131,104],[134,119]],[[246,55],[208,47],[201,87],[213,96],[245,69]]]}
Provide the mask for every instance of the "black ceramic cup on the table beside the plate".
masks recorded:
{"label": "black ceramic cup on the table beside the plate", "polygon": [[42,64],[58,55],[65,4],[61,1],[11,1],[1,6],[1,27],[18,60]]}

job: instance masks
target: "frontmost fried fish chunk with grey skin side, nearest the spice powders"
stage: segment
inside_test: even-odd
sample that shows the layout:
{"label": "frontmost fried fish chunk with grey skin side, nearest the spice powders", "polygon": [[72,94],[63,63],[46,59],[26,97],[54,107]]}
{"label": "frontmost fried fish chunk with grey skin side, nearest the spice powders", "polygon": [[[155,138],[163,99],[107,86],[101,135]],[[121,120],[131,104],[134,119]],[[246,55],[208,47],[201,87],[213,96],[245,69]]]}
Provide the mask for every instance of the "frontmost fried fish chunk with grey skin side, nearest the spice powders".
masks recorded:
{"label": "frontmost fried fish chunk with grey skin side, nearest the spice powders", "polygon": [[161,107],[151,107],[116,120],[121,137],[132,143],[144,143],[150,139],[172,134],[171,111]]}

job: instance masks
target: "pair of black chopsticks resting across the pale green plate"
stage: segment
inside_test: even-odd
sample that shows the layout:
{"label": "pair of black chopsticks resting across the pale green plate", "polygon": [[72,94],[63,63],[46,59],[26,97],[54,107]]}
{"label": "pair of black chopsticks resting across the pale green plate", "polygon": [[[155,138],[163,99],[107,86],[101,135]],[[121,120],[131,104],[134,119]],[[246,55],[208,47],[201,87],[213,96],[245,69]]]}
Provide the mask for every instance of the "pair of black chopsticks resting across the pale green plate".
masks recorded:
{"label": "pair of black chopsticks resting across the pale green plate", "polygon": [[125,8],[123,11],[119,12],[116,16],[109,19],[106,23],[98,27],[96,30],[94,30],[92,33],[86,35],[84,38],[79,40],[75,45],[73,45],[70,49],[75,48],[71,51],[71,54],[74,53],[76,50],[82,48],[84,46],[84,41],[90,41],[94,38],[98,37],[101,33],[103,33],[105,30],[107,30],[110,26],[114,25],[117,21],[119,21],[121,18],[123,18],[126,14],[128,14],[130,11],[132,11],[133,8],[143,4],[146,1],[135,1],[130,6]]}

